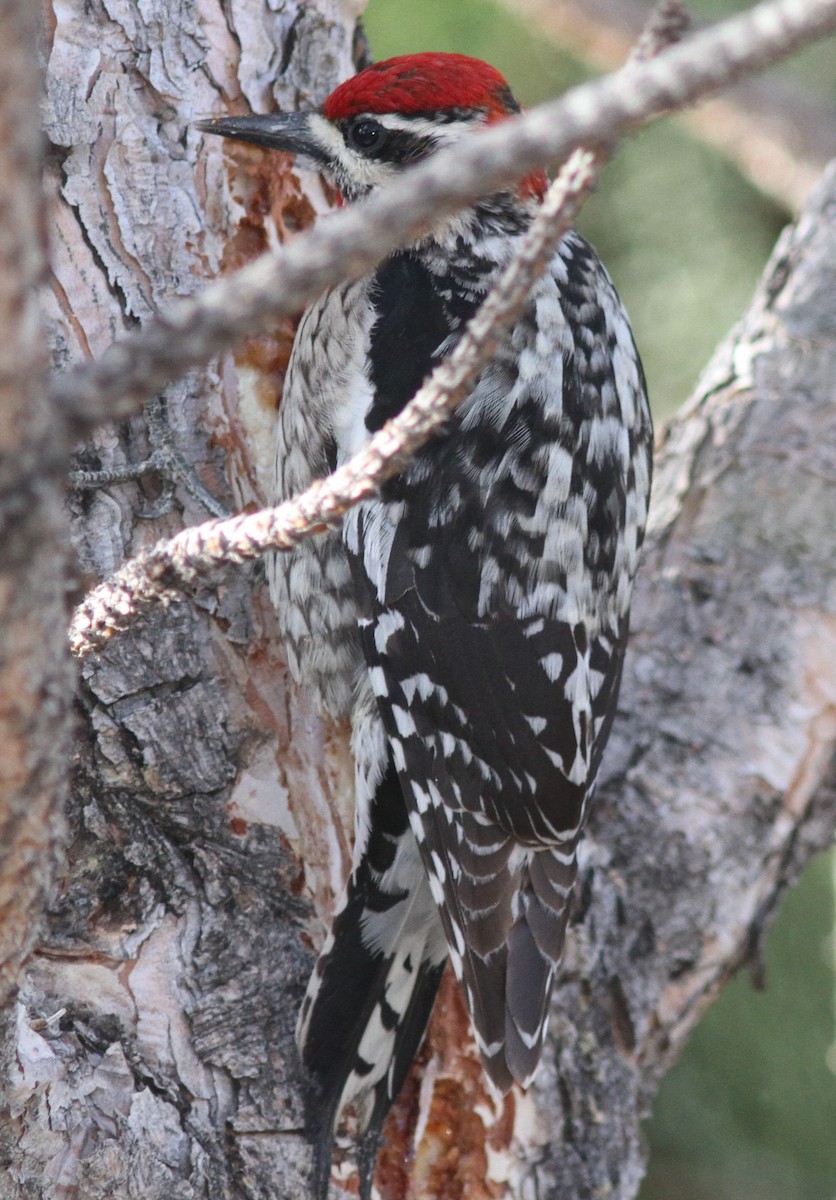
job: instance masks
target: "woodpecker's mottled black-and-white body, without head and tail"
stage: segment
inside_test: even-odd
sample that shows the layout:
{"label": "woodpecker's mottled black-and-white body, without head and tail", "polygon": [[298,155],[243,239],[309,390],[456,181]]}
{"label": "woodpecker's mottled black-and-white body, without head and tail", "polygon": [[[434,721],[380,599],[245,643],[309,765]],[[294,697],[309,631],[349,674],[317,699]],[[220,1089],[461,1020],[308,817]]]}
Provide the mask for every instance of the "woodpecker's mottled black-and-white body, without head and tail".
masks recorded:
{"label": "woodpecker's mottled black-and-white body, without head and tail", "polygon": [[[455,268],[441,269],[443,250],[393,256],[306,316],[326,330],[330,360],[297,342],[284,492],[306,482],[291,450],[300,428],[306,470],[312,443],[323,469],[344,461],[461,334],[499,264],[458,242]],[[321,678],[326,703],[341,670],[345,696],[355,679],[372,685],[380,716],[366,703],[366,720],[383,721],[405,836],[501,1090],[530,1079],[542,1048],[649,478],[630,328],[596,256],[570,235],[447,430],[351,510],[342,538],[281,563],[279,619],[284,604],[301,678]],[[367,830],[368,815],[359,820]]]}

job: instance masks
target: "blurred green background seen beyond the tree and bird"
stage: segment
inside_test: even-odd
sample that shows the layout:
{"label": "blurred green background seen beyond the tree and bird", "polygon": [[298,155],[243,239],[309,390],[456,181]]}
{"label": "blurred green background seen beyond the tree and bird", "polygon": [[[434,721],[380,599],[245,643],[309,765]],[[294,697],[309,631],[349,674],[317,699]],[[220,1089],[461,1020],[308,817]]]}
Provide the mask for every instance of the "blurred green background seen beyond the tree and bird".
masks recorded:
{"label": "blurred green background seen beyond the tree and bird", "polygon": [[[745,7],[690,5],[703,20]],[[375,59],[473,54],[530,106],[615,66],[637,18],[638,0],[369,0],[365,24]],[[762,97],[753,126],[705,109],[698,132],[667,120],[631,138],[578,222],[630,311],[657,425],[693,390],[807,179],[836,154],[834,38],[758,88],[740,101]],[[730,158],[718,138],[735,143]],[[835,888],[836,858],[813,863],[769,935],[766,990],[733,980],[664,1080],[640,1200],[836,1200]]]}

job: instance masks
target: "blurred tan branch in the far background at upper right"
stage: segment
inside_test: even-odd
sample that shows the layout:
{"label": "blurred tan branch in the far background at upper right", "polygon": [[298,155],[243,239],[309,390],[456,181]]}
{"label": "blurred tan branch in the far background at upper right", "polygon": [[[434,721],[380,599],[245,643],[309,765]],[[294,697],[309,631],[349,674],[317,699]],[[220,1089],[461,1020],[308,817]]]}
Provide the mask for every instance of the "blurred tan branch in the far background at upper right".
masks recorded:
{"label": "blurred tan branch in the far background at upper right", "polygon": [[[505,6],[597,71],[623,61],[648,18],[642,0],[505,0]],[[789,79],[747,79],[681,119],[789,212],[801,209],[836,157],[832,104]]]}

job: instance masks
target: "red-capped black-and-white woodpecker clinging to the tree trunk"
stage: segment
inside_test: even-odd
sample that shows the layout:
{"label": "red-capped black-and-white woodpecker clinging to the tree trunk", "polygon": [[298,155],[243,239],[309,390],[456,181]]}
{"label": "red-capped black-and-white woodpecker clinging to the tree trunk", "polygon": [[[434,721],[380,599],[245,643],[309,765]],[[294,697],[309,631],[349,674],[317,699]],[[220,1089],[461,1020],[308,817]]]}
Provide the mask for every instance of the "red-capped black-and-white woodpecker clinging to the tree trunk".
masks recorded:
{"label": "red-capped black-and-white woodpecker clinging to the tree trunk", "polygon": [[[354,203],[517,113],[493,67],[429,53],[367,67],[317,112],[199,127],[302,155]],[[307,310],[279,413],[277,500],[404,407],[545,188],[535,173],[439,220]],[[615,713],[651,438],[624,307],[570,233],[444,432],[339,532],[269,564],[293,674],[350,718],[356,764],[351,874],[297,1028],[321,1196],[349,1105],[368,1130],[371,1193],[379,1130],[447,958],[493,1088],[525,1087],[536,1070]]]}

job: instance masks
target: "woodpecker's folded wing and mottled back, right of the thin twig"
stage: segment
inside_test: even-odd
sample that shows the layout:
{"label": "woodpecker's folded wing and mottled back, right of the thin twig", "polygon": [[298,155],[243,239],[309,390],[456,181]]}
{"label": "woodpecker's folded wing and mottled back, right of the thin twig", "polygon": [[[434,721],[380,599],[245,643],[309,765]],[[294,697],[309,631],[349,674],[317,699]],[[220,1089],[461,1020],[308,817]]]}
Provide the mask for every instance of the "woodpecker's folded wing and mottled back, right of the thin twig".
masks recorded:
{"label": "woodpecker's folded wing and mottled back, right of the thin twig", "polygon": [[344,530],[371,683],[503,1090],[540,1054],[650,469],[626,319],[584,244],[565,253],[447,431]]}

